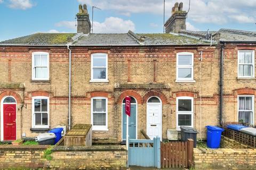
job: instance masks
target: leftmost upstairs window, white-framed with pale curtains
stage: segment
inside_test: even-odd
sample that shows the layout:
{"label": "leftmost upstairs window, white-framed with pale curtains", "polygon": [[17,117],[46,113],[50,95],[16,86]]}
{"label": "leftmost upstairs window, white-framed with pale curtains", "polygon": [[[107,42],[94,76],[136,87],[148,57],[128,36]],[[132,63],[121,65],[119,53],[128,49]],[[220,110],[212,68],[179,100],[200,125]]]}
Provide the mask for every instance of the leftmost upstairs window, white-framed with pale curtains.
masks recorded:
{"label": "leftmost upstairs window, white-framed with pale curtains", "polygon": [[49,80],[49,53],[33,53],[32,70],[32,80]]}

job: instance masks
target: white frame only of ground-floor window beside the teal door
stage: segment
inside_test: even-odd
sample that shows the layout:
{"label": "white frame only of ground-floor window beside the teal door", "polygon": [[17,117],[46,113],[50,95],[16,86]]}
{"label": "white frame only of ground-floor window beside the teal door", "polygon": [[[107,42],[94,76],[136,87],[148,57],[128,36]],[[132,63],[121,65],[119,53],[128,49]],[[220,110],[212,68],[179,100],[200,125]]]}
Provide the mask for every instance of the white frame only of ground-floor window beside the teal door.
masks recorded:
{"label": "white frame only of ground-floor window beside the teal door", "polygon": [[[93,125],[93,99],[106,99],[106,125]],[[105,112],[102,112],[105,113]],[[92,97],[91,98],[91,124],[93,131],[108,131],[108,98],[107,97]]]}

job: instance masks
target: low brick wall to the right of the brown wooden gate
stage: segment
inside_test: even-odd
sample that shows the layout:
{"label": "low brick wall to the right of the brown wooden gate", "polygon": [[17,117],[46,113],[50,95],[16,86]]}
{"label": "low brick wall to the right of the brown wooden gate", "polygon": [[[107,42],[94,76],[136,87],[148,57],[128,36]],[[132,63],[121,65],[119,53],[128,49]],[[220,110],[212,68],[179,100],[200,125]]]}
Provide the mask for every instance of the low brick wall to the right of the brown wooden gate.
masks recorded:
{"label": "low brick wall to the right of the brown wooden gate", "polygon": [[256,149],[194,148],[195,169],[256,169]]}

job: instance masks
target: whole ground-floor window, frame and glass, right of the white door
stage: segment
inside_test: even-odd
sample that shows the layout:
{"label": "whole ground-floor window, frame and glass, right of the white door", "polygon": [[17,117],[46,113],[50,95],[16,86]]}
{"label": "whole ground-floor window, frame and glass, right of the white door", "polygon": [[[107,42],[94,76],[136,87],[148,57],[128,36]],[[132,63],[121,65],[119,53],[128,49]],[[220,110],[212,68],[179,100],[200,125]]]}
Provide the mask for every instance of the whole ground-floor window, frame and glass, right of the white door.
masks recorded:
{"label": "whole ground-floor window, frame and glass, right of the white door", "polygon": [[192,97],[177,97],[177,129],[180,126],[193,127],[193,98]]}

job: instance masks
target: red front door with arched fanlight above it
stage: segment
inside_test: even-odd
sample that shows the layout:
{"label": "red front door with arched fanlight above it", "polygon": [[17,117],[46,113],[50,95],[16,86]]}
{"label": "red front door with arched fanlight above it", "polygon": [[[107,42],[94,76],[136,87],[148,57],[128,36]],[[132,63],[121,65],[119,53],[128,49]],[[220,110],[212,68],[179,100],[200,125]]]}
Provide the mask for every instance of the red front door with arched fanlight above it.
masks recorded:
{"label": "red front door with arched fanlight above it", "polygon": [[3,100],[3,140],[16,140],[16,100],[5,97]]}

